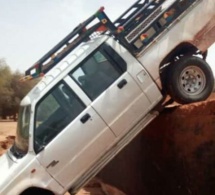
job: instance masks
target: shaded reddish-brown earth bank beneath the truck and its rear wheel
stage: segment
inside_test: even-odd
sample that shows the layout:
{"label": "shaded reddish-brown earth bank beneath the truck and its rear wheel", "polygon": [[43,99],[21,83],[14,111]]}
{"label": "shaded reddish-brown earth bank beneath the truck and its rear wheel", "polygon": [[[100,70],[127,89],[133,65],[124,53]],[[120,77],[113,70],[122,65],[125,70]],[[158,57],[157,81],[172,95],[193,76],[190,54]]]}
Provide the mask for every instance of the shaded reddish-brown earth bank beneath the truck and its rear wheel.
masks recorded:
{"label": "shaded reddish-brown earth bank beneath the truck and its rear wheel", "polygon": [[214,195],[214,127],[214,94],[169,107],[98,176],[128,195]]}

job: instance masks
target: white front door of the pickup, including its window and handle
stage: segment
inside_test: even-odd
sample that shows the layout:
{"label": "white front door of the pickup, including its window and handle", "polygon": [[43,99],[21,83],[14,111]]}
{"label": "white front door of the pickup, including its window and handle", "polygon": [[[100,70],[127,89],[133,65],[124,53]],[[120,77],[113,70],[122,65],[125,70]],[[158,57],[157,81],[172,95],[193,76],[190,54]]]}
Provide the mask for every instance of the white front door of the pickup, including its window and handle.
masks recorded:
{"label": "white front door of the pickup, including its window and handle", "polygon": [[[76,94],[70,77],[36,105],[34,149],[40,163],[64,187],[71,186],[107,151],[115,136]],[[76,93],[69,87],[73,86]],[[88,106],[87,106],[88,105]]]}

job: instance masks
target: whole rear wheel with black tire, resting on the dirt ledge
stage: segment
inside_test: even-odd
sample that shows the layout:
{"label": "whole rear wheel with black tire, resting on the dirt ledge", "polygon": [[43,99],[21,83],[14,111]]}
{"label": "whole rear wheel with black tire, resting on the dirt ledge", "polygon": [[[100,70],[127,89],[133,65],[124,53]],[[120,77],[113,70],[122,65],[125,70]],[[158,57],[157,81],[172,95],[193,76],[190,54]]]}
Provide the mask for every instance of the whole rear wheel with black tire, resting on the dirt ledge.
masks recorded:
{"label": "whole rear wheel with black tire, resting on the dirt ledge", "polygon": [[184,56],[168,71],[168,93],[178,103],[203,101],[214,88],[213,72],[206,61]]}

